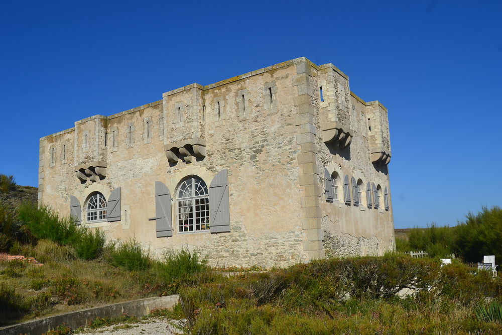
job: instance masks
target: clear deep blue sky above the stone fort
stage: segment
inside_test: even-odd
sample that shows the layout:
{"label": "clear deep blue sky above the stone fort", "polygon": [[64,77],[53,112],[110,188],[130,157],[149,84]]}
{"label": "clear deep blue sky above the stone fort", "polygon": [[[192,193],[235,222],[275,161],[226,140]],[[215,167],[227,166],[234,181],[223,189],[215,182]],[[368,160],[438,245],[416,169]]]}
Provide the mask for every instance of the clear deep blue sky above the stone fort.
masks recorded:
{"label": "clear deep blue sky above the stone fort", "polygon": [[502,205],[502,2],[3,1],[0,172],[39,138],[305,56],[389,109],[396,228]]}

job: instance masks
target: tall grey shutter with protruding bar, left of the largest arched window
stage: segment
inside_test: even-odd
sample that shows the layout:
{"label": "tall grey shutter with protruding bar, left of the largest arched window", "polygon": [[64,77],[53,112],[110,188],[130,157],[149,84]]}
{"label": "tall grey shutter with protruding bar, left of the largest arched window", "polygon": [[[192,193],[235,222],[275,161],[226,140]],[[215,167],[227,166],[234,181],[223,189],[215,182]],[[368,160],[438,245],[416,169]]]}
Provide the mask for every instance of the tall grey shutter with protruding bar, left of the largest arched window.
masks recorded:
{"label": "tall grey shutter with protruding bar, left of the largest arched window", "polygon": [[172,215],[171,193],[167,186],[160,182],[155,182],[155,216],[149,220],[155,220],[157,237],[173,236],[173,215]]}

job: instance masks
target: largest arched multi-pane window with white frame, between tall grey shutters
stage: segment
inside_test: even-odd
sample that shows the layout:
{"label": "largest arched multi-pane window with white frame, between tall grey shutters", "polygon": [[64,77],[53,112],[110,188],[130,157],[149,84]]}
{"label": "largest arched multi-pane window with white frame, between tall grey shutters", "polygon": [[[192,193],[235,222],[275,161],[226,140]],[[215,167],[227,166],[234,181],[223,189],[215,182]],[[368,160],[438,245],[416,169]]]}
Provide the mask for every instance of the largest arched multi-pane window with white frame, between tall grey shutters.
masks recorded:
{"label": "largest arched multi-pane window with white frame, between tall grey shutters", "polygon": [[209,195],[206,183],[197,176],[185,179],[178,187],[179,232],[209,230]]}

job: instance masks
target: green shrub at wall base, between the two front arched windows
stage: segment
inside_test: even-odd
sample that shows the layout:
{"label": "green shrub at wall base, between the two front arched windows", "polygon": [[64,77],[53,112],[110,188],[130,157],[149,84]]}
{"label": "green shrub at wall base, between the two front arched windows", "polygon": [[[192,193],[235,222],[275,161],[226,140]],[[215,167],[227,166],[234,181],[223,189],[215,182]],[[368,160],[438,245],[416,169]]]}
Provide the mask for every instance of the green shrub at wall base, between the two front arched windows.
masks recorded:
{"label": "green shrub at wall base, between the two front arched windows", "polygon": [[149,253],[145,252],[135,240],[110,245],[107,259],[111,265],[129,271],[146,270],[152,264]]}

